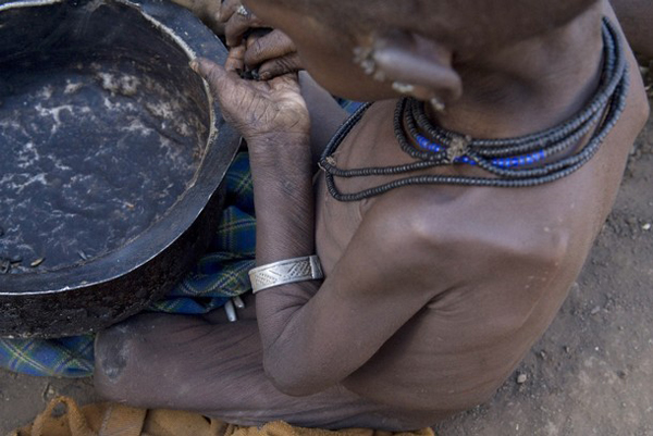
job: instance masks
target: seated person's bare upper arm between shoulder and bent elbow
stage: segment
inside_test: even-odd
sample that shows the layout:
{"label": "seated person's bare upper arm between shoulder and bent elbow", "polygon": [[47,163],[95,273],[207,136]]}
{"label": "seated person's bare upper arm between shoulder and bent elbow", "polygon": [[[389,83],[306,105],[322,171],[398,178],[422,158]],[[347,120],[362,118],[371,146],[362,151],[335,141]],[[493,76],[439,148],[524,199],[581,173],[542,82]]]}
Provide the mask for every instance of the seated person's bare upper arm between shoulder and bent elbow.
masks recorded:
{"label": "seated person's bare upper arm between shoulder and bent elbow", "polygon": [[424,261],[432,241],[405,217],[368,213],[317,294],[280,321],[285,328],[264,350],[266,371],[280,390],[310,395],[340,383],[438,291]]}

